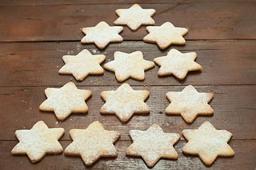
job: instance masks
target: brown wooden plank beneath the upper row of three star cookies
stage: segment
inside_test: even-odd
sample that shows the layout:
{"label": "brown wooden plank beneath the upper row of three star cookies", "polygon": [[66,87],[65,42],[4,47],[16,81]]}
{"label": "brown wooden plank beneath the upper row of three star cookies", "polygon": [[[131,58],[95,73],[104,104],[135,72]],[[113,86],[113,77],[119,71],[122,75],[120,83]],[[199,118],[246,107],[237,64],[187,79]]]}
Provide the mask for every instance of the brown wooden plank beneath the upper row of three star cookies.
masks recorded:
{"label": "brown wooden plank beneath the upper row of three star cookies", "polygon": [[[256,84],[256,40],[189,41],[185,46],[172,47],[182,52],[196,52],[196,62],[203,67],[201,72],[189,72],[184,80],[173,75],[158,77],[159,67],[145,72],[145,80],[128,79],[131,85],[213,85],[213,84]],[[123,42],[111,44],[105,50],[95,45],[81,45],[80,42],[17,42],[1,43],[0,86],[62,86],[72,75],[60,75],[58,70],[64,65],[63,55],[77,55],[88,49],[92,54],[106,55],[106,62],[113,60],[113,53],[141,50],[145,60],[167,55],[172,49],[160,51],[157,45],[145,42]],[[104,65],[101,64],[102,66]],[[29,81],[28,81],[29,80]],[[84,81],[75,81],[79,86],[117,86],[114,72],[104,71],[104,75],[89,75]]]}

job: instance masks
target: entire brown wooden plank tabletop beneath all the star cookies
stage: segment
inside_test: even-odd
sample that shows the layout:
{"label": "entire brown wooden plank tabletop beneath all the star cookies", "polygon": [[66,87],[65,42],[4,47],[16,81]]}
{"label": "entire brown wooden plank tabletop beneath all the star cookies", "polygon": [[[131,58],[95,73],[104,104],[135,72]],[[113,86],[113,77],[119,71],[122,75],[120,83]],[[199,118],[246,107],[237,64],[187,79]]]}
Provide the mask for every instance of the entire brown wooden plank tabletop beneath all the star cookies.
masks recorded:
{"label": "entire brown wooden plank tabletop beneath all the star cookies", "polygon": [[[155,26],[170,21],[174,26],[189,28],[184,36],[186,45],[171,45],[160,50],[155,43],[143,42],[145,27],[132,32],[124,26],[122,43],[111,43],[104,50],[95,45],[82,45],[81,28],[96,26],[106,21],[113,26],[118,18],[117,8],[132,4],[155,8]],[[218,157],[209,169],[255,169],[256,166],[256,1],[124,1],[124,0],[1,0],[0,2],[0,169],[85,169],[80,157],[65,154],[47,155],[32,164],[27,156],[13,156],[11,149],[18,143],[14,132],[30,129],[43,120],[50,128],[65,128],[60,143],[65,149],[71,142],[69,130],[87,128],[99,120],[106,130],[118,130],[121,138],[116,142],[116,159],[99,159],[92,169],[147,169],[140,157],[126,157],[125,150],[132,143],[129,130],[147,130],[158,123],[165,132],[181,134],[184,129],[196,129],[210,121],[216,129],[233,133],[229,145],[234,157]],[[93,54],[106,55],[113,60],[113,52],[140,50],[146,60],[167,55],[176,48],[182,52],[196,52],[201,72],[189,72],[184,80],[174,76],[158,77],[158,66],[145,72],[144,81],[125,81],[136,90],[150,91],[146,101],[149,115],[133,115],[128,123],[121,123],[116,115],[101,115],[104,105],[100,93],[116,90],[118,83],[113,72],[104,70],[102,76],[89,76],[75,81],[71,75],[60,75],[63,55],[77,55],[88,49]],[[106,63],[104,62],[104,63]],[[103,65],[103,64],[102,64]],[[59,122],[53,112],[39,111],[45,101],[44,90],[61,87],[73,81],[79,89],[92,91],[87,101],[89,113],[72,113]],[[212,116],[198,116],[187,124],[179,115],[166,115],[168,91],[182,91],[193,85],[199,92],[214,94],[210,105]],[[184,137],[175,149],[179,159],[160,159],[153,169],[206,169],[199,157],[182,153],[187,143]]]}

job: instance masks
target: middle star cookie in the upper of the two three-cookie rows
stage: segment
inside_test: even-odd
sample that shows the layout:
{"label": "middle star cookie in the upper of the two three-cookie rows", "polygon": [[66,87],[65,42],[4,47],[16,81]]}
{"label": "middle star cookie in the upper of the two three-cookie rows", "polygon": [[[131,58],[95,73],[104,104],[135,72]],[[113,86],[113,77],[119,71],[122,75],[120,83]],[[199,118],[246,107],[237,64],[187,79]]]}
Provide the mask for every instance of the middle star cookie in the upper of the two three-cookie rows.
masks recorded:
{"label": "middle star cookie in the upper of the two three-cookie rows", "polygon": [[140,51],[130,54],[124,52],[115,52],[114,60],[104,64],[105,69],[115,72],[118,81],[124,81],[129,77],[133,79],[145,79],[145,70],[155,66],[154,62],[143,59],[143,53]]}

